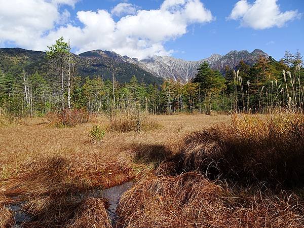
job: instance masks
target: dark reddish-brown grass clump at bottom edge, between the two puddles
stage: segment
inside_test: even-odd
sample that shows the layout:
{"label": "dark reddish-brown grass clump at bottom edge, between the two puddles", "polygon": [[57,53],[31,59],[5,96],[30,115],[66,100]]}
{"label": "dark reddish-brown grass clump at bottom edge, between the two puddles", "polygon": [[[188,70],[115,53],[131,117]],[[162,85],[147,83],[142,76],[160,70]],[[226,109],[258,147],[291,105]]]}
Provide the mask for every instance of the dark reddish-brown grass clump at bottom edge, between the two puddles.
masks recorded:
{"label": "dark reddish-brown grass clump at bottom edge, between the two puddles", "polygon": [[86,198],[80,202],[72,197],[40,198],[23,207],[35,216],[24,226],[110,228],[106,207],[107,201],[101,198]]}

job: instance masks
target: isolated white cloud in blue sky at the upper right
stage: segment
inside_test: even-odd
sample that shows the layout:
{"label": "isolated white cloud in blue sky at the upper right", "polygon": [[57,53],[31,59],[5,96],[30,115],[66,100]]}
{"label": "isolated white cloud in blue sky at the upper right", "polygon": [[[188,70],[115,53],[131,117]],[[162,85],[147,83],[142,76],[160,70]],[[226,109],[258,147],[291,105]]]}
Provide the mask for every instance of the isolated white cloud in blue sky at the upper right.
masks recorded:
{"label": "isolated white cloud in blue sky at the upper right", "polygon": [[286,22],[301,16],[296,10],[281,12],[277,1],[256,0],[250,4],[247,0],[241,0],[235,5],[228,19],[240,20],[244,27],[266,29],[282,27]]}

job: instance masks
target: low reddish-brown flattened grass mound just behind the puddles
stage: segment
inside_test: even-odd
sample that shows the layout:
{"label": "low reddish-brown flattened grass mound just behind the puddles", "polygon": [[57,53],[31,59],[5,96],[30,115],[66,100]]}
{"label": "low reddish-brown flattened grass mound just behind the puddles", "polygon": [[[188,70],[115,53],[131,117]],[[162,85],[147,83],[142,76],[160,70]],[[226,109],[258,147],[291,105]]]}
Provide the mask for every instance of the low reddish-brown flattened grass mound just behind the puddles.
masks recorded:
{"label": "low reddish-brown flattened grass mound just behind the puddles", "polygon": [[6,184],[7,194],[64,195],[93,187],[108,188],[132,179],[132,169],[124,160],[105,163],[102,155],[40,158],[20,167],[20,174]]}

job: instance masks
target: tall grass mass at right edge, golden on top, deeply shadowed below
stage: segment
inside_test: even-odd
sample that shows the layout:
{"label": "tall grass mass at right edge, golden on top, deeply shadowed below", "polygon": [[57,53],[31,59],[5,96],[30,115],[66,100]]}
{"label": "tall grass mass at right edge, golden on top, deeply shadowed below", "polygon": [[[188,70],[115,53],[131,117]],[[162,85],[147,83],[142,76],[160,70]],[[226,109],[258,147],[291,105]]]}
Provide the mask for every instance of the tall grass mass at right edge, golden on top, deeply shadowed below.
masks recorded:
{"label": "tall grass mass at right edge, golden on top, deeply shadowed below", "polygon": [[[176,171],[198,170],[209,179],[292,187],[304,183],[304,115],[235,115],[185,137],[172,158]],[[160,167],[161,168],[161,167]]]}

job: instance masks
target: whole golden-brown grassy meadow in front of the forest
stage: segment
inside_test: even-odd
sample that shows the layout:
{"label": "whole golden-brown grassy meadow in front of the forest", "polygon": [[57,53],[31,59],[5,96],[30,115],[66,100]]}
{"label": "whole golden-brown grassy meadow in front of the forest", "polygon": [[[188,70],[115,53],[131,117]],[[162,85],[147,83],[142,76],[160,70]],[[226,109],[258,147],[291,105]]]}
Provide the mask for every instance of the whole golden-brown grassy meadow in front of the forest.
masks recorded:
{"label": "whole golden-brown grassy meadow in front of the forest", "polygon": [[[302,113],[147,118],[1,127],[0,227],[304,227]],[[83,197],[129,181],[115,222]]]}

